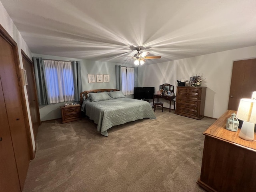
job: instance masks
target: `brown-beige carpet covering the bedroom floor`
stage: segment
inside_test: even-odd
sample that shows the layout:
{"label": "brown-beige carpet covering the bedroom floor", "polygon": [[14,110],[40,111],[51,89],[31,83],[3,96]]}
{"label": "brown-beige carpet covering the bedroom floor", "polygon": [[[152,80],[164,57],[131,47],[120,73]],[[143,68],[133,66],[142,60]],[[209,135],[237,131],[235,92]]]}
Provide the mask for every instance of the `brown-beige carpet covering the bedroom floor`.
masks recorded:
{"label": "brown-beige carpet covering the bedroom floor", "polygon": [[204,192],[204,135],[214,119],[158,108],[156,120],[114,126],[108,137],[88,118],[43,122],[24,192]]}

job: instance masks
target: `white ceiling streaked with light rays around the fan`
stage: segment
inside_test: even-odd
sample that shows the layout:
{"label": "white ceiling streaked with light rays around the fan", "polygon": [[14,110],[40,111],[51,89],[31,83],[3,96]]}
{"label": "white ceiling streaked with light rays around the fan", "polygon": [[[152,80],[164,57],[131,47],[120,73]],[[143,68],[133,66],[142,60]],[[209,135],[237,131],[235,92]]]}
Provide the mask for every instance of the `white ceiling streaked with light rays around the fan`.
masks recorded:
{"label": "white ceiling streaked with light rays around the fan", "polygon": [[256,45],[256,0],[0,0],[32,53],[146,64]]}

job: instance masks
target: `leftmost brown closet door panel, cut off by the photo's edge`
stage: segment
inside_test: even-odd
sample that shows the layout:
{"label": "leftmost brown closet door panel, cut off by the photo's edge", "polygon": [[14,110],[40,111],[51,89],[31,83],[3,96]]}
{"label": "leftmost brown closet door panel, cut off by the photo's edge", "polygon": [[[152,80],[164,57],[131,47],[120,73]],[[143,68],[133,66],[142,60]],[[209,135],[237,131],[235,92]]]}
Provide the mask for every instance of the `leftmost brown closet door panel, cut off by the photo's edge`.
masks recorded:
{"label": "leftmost brown closet door panel, cut off by the photo's edge", "polygon": [[20,191],[20,183],[0,78],[0,192]]}

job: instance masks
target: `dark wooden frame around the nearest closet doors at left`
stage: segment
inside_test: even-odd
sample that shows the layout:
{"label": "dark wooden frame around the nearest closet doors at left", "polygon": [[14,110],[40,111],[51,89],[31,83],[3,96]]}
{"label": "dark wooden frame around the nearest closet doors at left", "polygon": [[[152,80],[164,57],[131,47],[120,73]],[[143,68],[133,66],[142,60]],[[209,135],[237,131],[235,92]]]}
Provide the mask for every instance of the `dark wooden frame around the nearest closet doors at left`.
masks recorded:
{"label": "dark wooden frame around the nearest closet doors at left", "polygon": [[[29,147],[29,153],[30,153],[30,159],[34,159],[35,153],[33,150],[33,144],[32,144],[32,138],[31,138],[31,132],[30,132],[30,126],[29,126],[29,120],[28,120],[28,109],[26,105],[26,98],[25,98],[25,92],[23,88],[23,83],[21,79],[21,70],[20,70],[20,61],[19,61],[19,54],[18,54],[18,46],[17,43],[14,41],[14,39],[8,34],[8,32],[3,28],[3,26],[0,24],[0,36],[12,46],[12,50],[14,53],[14,62],[15,62],[15,68],[16,68],[16,75],[18,77],[18,86],[19,86],[19,94],[21,98],[22,106],[22,112],[24,116],[24,123],[26,128],[26,135],[27,135],[27,141],[28,141],[28,147]],[[36,150],[35,150],[36,151]]]}

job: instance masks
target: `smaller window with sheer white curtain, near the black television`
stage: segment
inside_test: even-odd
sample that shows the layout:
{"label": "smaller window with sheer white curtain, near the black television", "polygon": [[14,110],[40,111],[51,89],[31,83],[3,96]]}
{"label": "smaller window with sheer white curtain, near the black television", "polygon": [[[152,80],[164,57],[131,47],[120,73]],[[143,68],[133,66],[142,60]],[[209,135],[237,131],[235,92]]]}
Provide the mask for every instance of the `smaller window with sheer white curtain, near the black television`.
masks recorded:
{"label": "smaller window with sheer white curtain, near the black television", "polygon": [[124,95],[134,94],[134,68],[121,67],[122,92]]}

